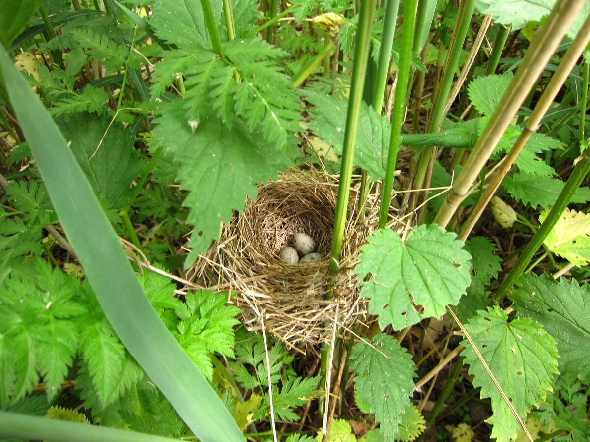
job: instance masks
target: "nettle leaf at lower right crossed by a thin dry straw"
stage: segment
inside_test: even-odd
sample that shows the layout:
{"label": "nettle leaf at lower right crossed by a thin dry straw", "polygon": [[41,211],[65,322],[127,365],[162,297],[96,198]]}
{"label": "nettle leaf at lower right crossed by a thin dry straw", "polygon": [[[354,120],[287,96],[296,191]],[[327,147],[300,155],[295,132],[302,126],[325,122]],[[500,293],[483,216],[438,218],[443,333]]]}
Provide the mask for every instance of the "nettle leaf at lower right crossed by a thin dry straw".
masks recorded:
{"label": "nettle leaf at lower right crossed by a thin dry straw", "polygon": [[[478,312],[465,328],[514,410],[526,420],[527,413],[545,400],[558,372],[555,341],[530,319],[517,318],[509,323],[506,312],[497,306]],[[470,365],[473,386],[481,387],[482,398],[491,399],[493,415],[486,420],[492,425],[491,437],[499,442],[509,441],[520,425],[467,339],[461,344],[466,347],[461,354]]]}

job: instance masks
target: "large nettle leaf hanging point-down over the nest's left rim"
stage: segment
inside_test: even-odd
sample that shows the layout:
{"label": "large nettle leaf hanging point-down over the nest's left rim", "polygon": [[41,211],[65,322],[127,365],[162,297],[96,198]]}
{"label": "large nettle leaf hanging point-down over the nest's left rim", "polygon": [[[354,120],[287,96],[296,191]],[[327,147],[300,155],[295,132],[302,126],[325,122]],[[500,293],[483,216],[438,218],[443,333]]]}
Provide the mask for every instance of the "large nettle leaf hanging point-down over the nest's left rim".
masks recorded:
{"label": "large nettle leaf hanging point-down over the nest's left rim", "polygon": [[177,179],[190,191],[183,203],[191,208],[187,222],[195,225],[189,243],[193,250],[185,263],[189,266],[219,238],[219,226],[229,222],[232,210],[243,209],[247,196],[256,198],[255,184],[276,179],[293,156],[248,130],[237,117],[232,117],[230,130],[214,114],[199,121],[187,121],[185,114],[182,101],[166,106],[155,118],[152,141],[164,146],[165,157],[181,164]]}

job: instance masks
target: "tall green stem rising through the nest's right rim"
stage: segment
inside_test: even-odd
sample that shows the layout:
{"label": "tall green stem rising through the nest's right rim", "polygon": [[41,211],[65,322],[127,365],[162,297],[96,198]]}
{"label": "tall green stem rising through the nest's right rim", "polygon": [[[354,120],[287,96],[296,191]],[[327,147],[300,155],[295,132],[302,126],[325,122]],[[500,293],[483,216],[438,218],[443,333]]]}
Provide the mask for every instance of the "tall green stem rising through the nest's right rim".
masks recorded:
{"label": "tall green stem rising through the nest's right rim", "polygon": [[[340,253],[342,253],[342,240],[346,226],[346,212],[350,193],[350,179],[352,178],[356,132],[358,130],[360,102],[362,101],[363,86],[365,84],[367,61],[369,59],[369,41],[371,38],[371,25],[375,4],[376,0],[366,0],[360,6],[359,25],[356,32],[355,59],[352,69],[352,79],[350,81],[342,159],[340,160],[340,180],[338,183],[338,197],[332,231],[332,251],[330,252],[326,299],[332,299],[334,297],[334,285],[340,267]],[[322,344],[320,358],[322,377],[326,375],[329,349],[329,344],[324,342]]]}

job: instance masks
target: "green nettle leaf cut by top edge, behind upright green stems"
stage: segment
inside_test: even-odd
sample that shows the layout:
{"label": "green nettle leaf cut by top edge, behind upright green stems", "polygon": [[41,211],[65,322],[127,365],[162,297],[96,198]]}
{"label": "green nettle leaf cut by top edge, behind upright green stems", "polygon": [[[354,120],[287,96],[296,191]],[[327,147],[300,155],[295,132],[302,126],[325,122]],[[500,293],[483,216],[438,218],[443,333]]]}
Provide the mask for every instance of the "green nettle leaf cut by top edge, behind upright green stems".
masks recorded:
{"label": "green nettle leaf cut by top edge, behind upright green stems", "polygon": [[[191,6],[191,11],[186,4]],[[221,21],[222,2],[211,2],[215,21]],[[192,12],[192,14],[191,14]],[[209,37],[201,2],[185,0],[156,0],[150,24],[156,35],[178,47],[207,48]]]}

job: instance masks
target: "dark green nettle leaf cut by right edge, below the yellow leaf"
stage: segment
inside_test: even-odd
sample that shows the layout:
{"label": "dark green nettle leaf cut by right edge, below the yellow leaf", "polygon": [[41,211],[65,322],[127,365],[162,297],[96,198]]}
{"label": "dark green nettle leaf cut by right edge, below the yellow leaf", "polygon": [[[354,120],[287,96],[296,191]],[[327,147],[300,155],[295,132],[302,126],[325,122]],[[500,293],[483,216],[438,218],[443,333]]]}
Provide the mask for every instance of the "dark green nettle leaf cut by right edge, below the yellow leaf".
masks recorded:
{"label": "dark green nettle leaf cut by right edge, below the yellow leaf", "polygon": [[559,368],[565,372],[590,371],[590,293],[550,275],[522,275],[510,299],[519,316],[533,319],[557,342]]}

